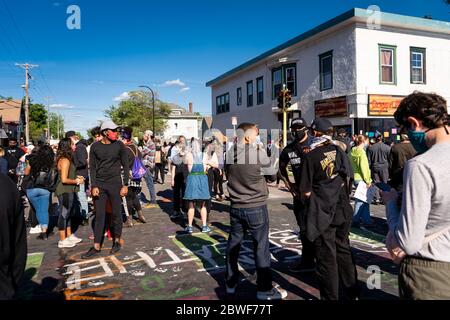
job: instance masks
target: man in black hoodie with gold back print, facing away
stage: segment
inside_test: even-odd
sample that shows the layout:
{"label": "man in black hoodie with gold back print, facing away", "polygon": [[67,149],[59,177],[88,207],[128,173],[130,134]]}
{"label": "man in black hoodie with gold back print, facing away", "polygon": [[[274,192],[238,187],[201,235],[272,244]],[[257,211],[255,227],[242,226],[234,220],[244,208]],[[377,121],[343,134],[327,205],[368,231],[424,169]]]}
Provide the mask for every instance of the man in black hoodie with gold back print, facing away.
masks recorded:
{"label": "man in black hoodie with gold back print, facing away", "polygon": [[316,119],[311,128],[315,139],[303,162],[300,190],[307,206],[306,236],[315,248],[320,297],[355,299],[359,290],[349,241],[352,167],[347,154],[332,141],[329,120]]}

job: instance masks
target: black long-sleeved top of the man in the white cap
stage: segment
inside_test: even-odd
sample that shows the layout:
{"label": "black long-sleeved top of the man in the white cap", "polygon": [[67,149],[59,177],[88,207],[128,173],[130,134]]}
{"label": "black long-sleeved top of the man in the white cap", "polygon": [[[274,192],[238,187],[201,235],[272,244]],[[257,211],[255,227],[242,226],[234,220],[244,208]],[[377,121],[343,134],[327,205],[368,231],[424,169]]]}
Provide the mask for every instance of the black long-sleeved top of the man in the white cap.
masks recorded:
{"label": "black long-sleeved top of the man in the white cap", "polygon": [[[128,153],[120,141],[111,144],[95,142],[89,153],[89,173],[92,188],[99,184],[121,184],[122,167],[129,168]],[[128,174],[123,178],[123,184],[128,185]]]}

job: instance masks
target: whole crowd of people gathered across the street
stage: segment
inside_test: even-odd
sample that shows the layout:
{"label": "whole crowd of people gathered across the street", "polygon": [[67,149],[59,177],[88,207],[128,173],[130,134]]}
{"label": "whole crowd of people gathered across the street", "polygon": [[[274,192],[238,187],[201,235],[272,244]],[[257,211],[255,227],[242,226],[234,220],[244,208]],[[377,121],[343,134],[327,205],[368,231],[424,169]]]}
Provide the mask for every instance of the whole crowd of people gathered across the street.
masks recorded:
{"label": "whole crowd of people gathered across the street", "polygon": [[[170,218],[184,218],[187,234],[194,232],[197,209],[199,231],[209,233],[212,199],[230,201],[228,294],[238,287],[240,245],[249,234],[254,243],[257,298],[287,296],[272,282],[267,207],[268,183],[282,180],[293,196],[302,243],[302,257],[290,271],[315,272],[322,299],[352,300],[360,295],[350,229],[373,226],[372,203],[355,198],[351,205],[352,191],[360,184],[376,188],[374,204],[386,205],[387,248],[394,261],[401,263],[400,296],[450,298],[446,101],[435,94],[413,93],[402,101],[395,119],[402,134],[401,142],[393,146],[381,135],[372,143],[364,135],[350,138],[345,131],[335,135],[325,118],[311,124],[294,119],[293,139],[284,149],[276,143],[267,148],[253,123],[240,124],[233,141],[216,136],[188,142],[180,136],[167,144],[148,130],[138,143],[132,128],[111,121],[92,130],[90,143],[67,132],[56,153],[46,144],[21,148],[10,140],[8,148],[0,149],[0,298],[13,296],[23,274],[26,228],[21,196],[26,196],[35,212],[31,233],[40,240],[52,232],[50,208],[52,197],[57,198],[59,248],[73,248],[83,241],[73,232],[74,219],[84,224],[91,221],[93,245],[82,255],[88,259],[100,254],[106,237],[113,243],[110,253],[119,252],[123,227],[132,227],[134,220],[148,221],[143,207],[157,207],[155,184],[164,184],[166,175],[172,188]],[[273,161],[274,154],[279,154],[279,162]],[[143,181],[150,199],[142,192]]]}

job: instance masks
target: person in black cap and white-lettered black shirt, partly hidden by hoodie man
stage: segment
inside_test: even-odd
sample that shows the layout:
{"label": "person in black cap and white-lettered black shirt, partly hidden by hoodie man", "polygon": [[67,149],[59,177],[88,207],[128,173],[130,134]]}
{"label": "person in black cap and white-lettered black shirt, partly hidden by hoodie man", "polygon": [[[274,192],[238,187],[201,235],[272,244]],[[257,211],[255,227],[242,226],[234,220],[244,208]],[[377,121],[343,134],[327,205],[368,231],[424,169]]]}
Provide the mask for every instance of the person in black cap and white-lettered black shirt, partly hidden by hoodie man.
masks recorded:
{"label": "person in black cap and white-lettered black shirt, partly hidden by hoodie man", "polygon": [[[310,140],[308,131],[308,125],[305,119],[297,118],[292,120],[291,134],[294,141],[288,144],[280,154],[279,176],[283,179],[286,187],[294,197],[294,215],[297,220],[297,225],[300,228],[300,240],[302,241],[302,258],[299,263],[290,268],[292,272],[312,272],[315,269],[314,247],[306,237],[305,205],[301,200],[299,189],[301,164],[306,155]],[[289,179],[287,171],[289,164],[294,175],[294,182],[291,182]]]}

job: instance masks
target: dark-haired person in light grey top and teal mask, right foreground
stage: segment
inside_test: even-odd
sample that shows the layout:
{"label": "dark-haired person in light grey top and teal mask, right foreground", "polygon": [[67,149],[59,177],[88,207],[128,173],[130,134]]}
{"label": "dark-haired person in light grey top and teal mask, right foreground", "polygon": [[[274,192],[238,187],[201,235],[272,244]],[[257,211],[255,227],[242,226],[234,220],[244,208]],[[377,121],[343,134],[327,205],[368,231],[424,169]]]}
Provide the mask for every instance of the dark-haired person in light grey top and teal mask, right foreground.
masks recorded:
{"label": "dark-haired person in light grey top and teal mask, right foreground", "polygon": [[400,262],[403,299],[450,299],[450,117],[437,94],[414,92],[394,114],[418,155],[404,169],[401,210],[397,191],[382,193],[389,225],[387,248]]}

